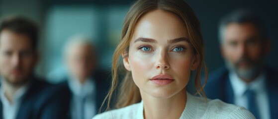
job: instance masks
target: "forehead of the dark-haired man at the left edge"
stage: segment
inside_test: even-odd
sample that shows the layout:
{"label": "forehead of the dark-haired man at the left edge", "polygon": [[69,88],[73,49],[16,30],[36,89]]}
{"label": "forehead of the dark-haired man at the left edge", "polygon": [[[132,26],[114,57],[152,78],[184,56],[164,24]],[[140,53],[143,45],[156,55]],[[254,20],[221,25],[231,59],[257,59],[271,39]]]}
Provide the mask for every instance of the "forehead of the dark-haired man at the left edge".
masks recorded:
{"label": "forehead of the dark-haired man at the left edge", "polygon": [[9,30],[0,32],[0,47],[13,49],[32,48],[30,38],[25,34],[14,33]]}

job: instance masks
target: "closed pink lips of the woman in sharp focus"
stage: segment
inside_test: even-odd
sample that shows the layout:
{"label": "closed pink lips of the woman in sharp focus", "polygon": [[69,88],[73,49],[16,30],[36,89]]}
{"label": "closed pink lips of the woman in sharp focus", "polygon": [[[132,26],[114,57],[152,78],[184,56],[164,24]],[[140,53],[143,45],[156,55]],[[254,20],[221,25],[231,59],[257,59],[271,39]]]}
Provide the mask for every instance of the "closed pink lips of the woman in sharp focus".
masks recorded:
{"label": "closed pink lips of the woman in sharp focus", "polygon": [[159,74],[150,79],[157,85],[167,85],[174,81],[173,77],[167,74]]}

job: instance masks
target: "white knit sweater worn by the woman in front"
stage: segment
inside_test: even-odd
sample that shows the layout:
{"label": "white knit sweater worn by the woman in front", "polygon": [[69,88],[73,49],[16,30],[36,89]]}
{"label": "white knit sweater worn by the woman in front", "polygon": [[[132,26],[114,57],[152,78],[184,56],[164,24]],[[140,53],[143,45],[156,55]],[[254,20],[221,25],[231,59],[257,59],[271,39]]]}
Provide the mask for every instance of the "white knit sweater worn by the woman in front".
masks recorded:
{"label": "white knit sweater worn by the woman in front", "polygon": [[[98,114],[93,119],[144,119],[143,101],[124,108]],[[169,118],[165,118],[169,119]],[[256,119],[243,107],[207,100],[187,93],[185,110],[180,119]]]}

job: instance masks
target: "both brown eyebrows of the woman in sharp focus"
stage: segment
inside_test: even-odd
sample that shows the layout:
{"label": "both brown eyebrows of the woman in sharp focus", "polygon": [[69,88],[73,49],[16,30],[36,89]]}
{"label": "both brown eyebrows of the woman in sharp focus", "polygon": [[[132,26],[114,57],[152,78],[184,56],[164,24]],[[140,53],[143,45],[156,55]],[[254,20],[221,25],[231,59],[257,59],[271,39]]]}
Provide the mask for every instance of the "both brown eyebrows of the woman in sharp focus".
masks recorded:
{"label": "both brown eyebrows of the woman in sharp focus", "polygon": [[[173,43],[178,43],[178,42],[181,42],[181,41],[183,41],[183,42],[189,42],[189,40],[188,40],[187,38],[182,37],[182,38],[177,38],[177,39],[168,40],[167,43],[168,43],[168,44],[173,44]],[[138,38],[137,40],[134,41],[134,43],[136,43],[136,42],[157,43],[157,41],[154,40],[154,39],[142,38],[142,37],[140,37],[140,38]]]}

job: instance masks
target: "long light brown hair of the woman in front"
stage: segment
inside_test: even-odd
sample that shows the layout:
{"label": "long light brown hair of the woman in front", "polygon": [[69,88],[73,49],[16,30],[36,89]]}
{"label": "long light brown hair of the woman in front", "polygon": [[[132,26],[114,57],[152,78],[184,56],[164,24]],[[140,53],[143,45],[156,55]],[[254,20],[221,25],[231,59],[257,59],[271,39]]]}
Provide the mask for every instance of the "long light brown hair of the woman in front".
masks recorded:
{"label": "long light brown hair of the woman in front", "polygon": [[[202,69],[205,72],[204,85],[207,80],[207,70],[204,61],[204,42],[200,32],[199,21],[191,7],[187,3],[185,3],[184,0],[137,0],[130,7],[125,17],[121,40],[116,47],[112,58],[112,83],[110,91],[105,98],[105,100],[107,100],[106,110],[109,110],[113,92],[116,90],[116,86],[118,84],[119,59],[122,53],[126,54],[126,56],[124,57],[128,57],[129,43],[131,41],[136,23],[144,14],[156,9],[174,13],[179,16],[185,23],[188,31],[189,42],[193,47],[194,54],[199,55],[200,57],[199,66],[195,73],[195,88],[197,90],[197,93],[206,99],[203,86],[200,81]],[[121,67],[123,67],[122,64]],[[119,94],[117,98],[118,100],[116,103],[116,108],[122,108],[141,101],[139,88],[133,82],[130,71],[125,70],[125,76],[121,81],[121,86],[119,88]]]}

